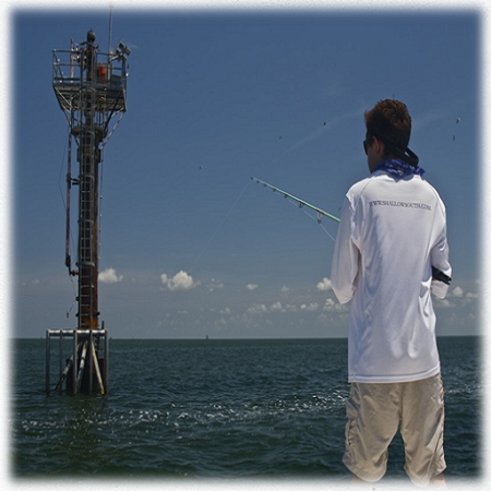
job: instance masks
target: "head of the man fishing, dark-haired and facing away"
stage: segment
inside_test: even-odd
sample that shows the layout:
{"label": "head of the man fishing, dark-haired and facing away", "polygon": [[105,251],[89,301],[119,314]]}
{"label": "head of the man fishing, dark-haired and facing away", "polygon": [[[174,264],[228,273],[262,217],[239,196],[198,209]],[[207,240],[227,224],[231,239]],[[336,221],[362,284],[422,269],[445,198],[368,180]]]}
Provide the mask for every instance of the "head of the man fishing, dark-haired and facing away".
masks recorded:
{"label": "head of the man fishing, dark-haired and facing away", "polygon": [[[370,171],[373,172],[384,158],[395,156],[392,147],[406,152],[411,135],[411,117],[404,103],[394,99],[380,100],[366,111],[366,152]],[[368,152],[373,146],[372,152]]]}

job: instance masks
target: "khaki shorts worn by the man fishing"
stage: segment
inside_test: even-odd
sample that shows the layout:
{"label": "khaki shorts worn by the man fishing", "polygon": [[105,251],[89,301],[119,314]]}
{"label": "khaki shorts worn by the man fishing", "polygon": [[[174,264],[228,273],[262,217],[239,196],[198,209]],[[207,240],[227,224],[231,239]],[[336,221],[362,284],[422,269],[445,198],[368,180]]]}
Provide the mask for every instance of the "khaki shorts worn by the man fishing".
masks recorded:
{"label": "khaki shorts worn by the man fishing", "polygon": [[346,406],[343,462],[359,478],[374,482],[387,468],[388,445],[400,426],[405,470],[427,486],[445,469],[443,384],[440,374],[403,383],[352,383]]}

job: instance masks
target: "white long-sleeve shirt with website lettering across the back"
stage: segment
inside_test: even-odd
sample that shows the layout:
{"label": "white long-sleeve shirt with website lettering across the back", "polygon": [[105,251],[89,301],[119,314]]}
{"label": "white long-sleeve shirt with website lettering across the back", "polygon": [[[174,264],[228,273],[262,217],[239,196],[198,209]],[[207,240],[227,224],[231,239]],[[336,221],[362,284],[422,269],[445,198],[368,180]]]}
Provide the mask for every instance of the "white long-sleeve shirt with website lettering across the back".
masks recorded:
{"label": "white long-sleeve shirt with website lettering across the back", "polygon": [[431,292],[451,276],[445,206],[420,176],[378,170],[346,194],[331,283],[339,302],[352,299],[349,382],[409,382],[440,371]]}

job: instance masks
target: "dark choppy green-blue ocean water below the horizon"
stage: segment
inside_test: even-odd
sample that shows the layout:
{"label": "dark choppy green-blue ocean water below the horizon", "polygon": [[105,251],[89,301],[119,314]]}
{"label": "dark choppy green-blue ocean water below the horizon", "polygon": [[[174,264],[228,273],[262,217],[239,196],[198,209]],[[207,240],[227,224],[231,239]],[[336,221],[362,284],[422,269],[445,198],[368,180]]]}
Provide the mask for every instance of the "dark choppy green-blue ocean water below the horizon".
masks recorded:
{"label": "dark choppy green-blue ocean water below the horizon", "polygon": [[[481,476],[480,342],[439,338],[448,482]],[[111,339],[105,396],[46,395],[45,340],[12,347],[12,479],[349,479],[346,339]]]}

